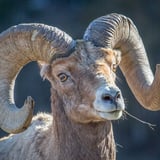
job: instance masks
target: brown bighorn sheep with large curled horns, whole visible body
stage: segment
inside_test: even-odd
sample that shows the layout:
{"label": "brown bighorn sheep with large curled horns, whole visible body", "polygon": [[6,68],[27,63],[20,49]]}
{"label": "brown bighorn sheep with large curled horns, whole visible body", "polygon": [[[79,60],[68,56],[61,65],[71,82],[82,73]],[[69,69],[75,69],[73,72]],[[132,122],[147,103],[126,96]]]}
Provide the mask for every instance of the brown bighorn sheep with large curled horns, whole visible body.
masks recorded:
{"label": "brown bighorn sheep with large curled horns, whole visible body", "polygon": [[[38,114],[31,125],[32,98],[21,109],[13,98],[15,77],[30,61],[39,61],[52,86],[52,115]],[[18,134],[1,139],[0,160],[115,160],[110,120],[124,110],[118,65],[141,105],[160,109],[160,65],[154,78],[138,31],[123,15],[95,19],[77,41],[43,24],[1,33],[0,127]]]}

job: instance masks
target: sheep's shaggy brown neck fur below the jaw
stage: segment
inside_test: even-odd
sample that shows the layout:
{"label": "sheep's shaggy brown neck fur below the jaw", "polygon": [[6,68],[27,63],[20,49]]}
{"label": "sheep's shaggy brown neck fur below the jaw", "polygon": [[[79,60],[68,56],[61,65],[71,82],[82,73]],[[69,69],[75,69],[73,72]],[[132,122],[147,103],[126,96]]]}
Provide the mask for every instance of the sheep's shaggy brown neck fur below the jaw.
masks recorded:
{"label": "sheep's shaggy brown neck fur below the jaw", "polygon": [[[60,100],[60,97],[57,99]],[[57,102],[57,99],[55,95],[52,97],[52,125],[56,143],[53,152],[56,153],[56,159],[115,160],[111,122],[75,123],[68,119],[62,101]]]}

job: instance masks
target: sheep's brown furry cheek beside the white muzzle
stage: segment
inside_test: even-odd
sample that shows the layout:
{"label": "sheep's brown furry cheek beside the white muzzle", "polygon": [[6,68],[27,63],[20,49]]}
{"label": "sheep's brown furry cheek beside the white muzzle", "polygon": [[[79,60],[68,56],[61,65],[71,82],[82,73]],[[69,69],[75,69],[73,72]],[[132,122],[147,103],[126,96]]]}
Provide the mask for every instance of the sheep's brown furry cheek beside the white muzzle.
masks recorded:
{"label": "sheep's brown furry cheek beside the white muzzle", "polygon": [[93,102],[95,99],[93,87],[83,87],[83,90],[77,91],[74,95],[64,97],[65,112],[68,117],[79,123],[88,123],[97,119]]}

